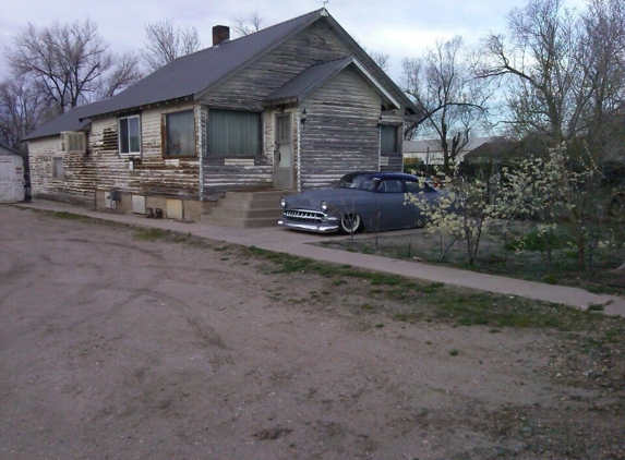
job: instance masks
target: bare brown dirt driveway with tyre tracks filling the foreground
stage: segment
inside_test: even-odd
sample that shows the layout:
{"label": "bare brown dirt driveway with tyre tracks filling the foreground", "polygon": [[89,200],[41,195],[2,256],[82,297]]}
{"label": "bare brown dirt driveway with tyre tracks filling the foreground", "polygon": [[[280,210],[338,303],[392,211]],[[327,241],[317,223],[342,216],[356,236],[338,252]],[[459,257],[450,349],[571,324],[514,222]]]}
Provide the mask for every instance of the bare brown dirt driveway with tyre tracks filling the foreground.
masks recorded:
{"label": "bare brown dirt driveway with tyre tracks filling the foreground", "polygon": [[266,264],[0,207],[0,458],[625,458],[622,343]]}

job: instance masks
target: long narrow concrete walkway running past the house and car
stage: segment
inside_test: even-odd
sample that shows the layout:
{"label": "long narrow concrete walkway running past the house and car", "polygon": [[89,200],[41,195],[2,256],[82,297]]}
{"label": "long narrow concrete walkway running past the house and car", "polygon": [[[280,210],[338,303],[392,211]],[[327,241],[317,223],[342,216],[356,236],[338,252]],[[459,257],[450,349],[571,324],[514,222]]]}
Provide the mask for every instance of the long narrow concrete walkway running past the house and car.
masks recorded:
{"label": "long narrow concrete walkway running past the house and car", "polygon": [[327,239],[327,235],[296,232],[277,226],[275,228],[235,229],[200,222],[184,223],[169,219],[146,219],[137,216],[108,214],[45,201],[20,203],[19,206],[47,210],[64,210],[95,219],[191,233],[196,237],[208,238],[216,241],[247,246],[253,245],[267,251],[284,252],[316,261],[349,264],[353,267],[369,268],[425,281],[440,281],[446,285],[498,294],[518,295],[527,299],[561,303],[584,310],[589,305],[603,305],[603,312],[605,314],[625,316],[625,299],[618,295],[593,294],[579,288],[525,281],[412,261],[398,261],[376,255],[320,247],[308,243],[322,241],[323,239]]}

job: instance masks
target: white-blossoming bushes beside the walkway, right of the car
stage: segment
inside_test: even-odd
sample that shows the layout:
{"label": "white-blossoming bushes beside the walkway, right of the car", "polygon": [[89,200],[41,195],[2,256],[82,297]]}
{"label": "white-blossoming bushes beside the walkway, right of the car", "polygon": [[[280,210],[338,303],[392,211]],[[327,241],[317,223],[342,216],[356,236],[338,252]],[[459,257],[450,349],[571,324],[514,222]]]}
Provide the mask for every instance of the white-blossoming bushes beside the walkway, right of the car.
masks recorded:
{"label": "white-blossoming bushes beside the walkway, right of the car", "polygon": [[591,155],[568,158],[566,148],[552,149],[546,156],[520,160],[514,168],[484,180],[446,177],[447,192],[438,203],[424,196],[408,202],[422,209],[430,233],[450,237],[452,243],[442,254],[461,240],[467,262],[473,264],[480,241],[495,221],[525,219],[536,223],[544,242],[548,270],[553,263],[555,234],[568,222],[575,240],[578,265],[592,265],[592,255],[600,246],[614,244],[610,228],[610,191],[601,186],[602,172]]}

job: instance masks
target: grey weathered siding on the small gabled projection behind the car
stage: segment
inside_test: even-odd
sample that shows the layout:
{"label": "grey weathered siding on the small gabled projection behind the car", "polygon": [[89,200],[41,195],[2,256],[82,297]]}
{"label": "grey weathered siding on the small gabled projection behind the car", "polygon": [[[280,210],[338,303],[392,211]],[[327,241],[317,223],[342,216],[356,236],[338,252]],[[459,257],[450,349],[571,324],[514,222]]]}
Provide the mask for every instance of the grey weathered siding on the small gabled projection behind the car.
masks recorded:
{"label": "grey weathered siding on the small gabled projection behind the car", "polygon": [[298,167],[302,190],[329,186],[354,170],[378,170],[381,97],[347,68],[307,98]]}

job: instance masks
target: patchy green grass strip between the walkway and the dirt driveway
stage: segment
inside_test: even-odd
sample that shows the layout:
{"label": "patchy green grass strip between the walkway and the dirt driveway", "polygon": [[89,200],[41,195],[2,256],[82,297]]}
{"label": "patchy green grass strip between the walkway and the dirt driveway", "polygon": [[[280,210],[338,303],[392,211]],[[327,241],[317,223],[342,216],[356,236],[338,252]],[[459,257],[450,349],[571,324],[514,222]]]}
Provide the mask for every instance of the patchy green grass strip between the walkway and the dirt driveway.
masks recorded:
{"label": "patchy green grass strip between the walkway and the dirt driveway", "polygon": [[[550,328],[561,331],[594,331],[601,340],[622,339],[622,327],[606,327],[604,315],[578,308],[526,300],[517,296],[446,288],[442,282],[421,283],[401,276],[378,274],[346,265],[321,263],[257,247],[242,249],[248,256],[261,258],[261,269],[271,274],[318,275],[332,278],[333,286],[353,283],[362,296],[360,310],[372,310],[371,298],[390,302],[375,305],[375,311],[404,323],[443,322],[453,327],[486,326],[491,334],[502,328]],[[356,281],[366,282],[369,290]],[[301,282],[301,281],[300,281]],[[614,331],[616,330],[616,331]]]}

